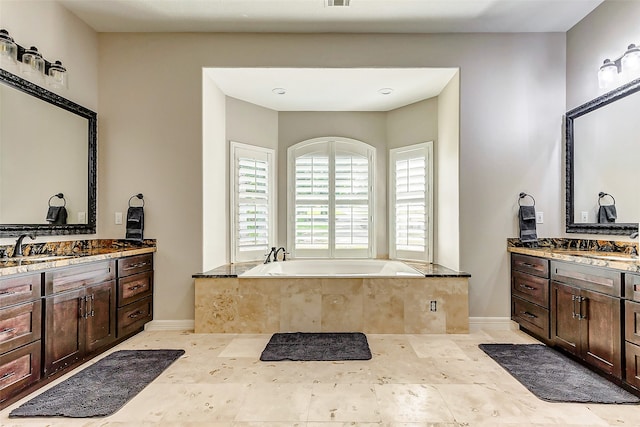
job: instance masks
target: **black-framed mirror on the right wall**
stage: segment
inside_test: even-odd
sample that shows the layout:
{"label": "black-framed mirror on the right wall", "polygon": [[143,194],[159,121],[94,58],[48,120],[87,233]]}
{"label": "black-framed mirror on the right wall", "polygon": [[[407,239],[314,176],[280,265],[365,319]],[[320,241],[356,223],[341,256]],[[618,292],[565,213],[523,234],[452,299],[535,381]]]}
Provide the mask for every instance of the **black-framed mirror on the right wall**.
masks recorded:
{"label": "black-framed mirror on the right wall", "polygon": [[[567,112],[567,233],[638,231],[638,91],[640,79]],[[600,193],[606,195],[600,198]],[[604,217],[599,219],[601,214]]]}

